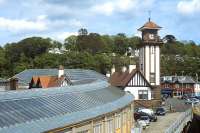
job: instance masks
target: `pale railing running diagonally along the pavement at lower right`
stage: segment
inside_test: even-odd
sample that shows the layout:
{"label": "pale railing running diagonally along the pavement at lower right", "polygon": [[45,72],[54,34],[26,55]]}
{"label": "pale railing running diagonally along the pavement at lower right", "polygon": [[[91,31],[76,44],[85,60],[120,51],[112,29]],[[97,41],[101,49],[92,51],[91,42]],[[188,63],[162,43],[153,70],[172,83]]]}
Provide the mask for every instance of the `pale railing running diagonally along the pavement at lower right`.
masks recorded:
{"label": "pale railing running diagonally along the pavement at lower right", "polygon": [[185,111],[183,114],[181,114],[180,117],[177,118],[177,120],[172,123],[172,125],[170,125],[166,130],[165,133],[174,133],[177,132],[177,130],[179,129],[180,125],[182,125],[186,118],[188,117],[192,117],[192,109],[188,109],[187,111]]}

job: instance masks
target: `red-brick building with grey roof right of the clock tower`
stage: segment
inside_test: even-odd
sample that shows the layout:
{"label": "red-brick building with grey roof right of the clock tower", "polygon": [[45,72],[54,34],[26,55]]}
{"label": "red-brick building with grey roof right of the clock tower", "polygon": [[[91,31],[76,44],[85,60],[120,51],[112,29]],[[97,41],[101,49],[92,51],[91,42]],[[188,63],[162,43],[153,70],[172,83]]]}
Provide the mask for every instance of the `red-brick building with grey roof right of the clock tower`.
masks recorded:
{"label": "red-brick building with grey roof right of the clock tower", "polygon": [[195,81],[190,76],[163,76],[161,77],[161,92],[171,96],[194,93]]}

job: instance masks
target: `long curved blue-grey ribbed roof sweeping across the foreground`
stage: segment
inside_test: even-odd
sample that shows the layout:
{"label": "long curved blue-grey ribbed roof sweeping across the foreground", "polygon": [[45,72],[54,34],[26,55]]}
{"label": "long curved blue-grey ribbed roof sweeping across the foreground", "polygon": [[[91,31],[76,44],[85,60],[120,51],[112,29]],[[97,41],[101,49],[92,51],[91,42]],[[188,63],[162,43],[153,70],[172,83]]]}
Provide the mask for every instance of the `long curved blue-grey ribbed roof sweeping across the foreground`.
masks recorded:
{"label": "long curved blue-grey ribbed roof sweeping across the foreground", "polygon": [[0,133],[44,132],[116,111],[133,101],[131,94],[111,86],[103,75],[77,71],[71,71],[72,79],[86,83],[0,93]]}

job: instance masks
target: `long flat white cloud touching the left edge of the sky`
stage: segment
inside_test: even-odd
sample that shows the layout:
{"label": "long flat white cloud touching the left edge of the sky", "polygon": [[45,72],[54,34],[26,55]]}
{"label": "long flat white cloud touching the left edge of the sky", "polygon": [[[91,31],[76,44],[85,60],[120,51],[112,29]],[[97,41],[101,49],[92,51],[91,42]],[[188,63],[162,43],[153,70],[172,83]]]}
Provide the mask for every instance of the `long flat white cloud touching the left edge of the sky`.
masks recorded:
{"label": "long flat white cloud touching the left edge of the sky", "polygon": [[8,19],[0,17],[0,28],[13,32],[20,31],[43,31],[47,29],[47,25],[44,21],[45,16],[38,16],[35,21],[26,19]]}

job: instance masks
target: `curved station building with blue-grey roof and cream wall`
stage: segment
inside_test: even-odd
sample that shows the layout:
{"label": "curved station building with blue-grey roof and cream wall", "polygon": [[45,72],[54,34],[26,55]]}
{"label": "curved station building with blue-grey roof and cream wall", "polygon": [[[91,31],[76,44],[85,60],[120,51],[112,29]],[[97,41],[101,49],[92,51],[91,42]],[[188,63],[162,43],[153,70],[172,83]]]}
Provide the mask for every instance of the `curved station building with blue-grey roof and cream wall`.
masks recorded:
{"label": "curved station building with blue-grey roof and cream wall", "polygon": [[[57,75],[56,69],[30,69],[16,75]],[[111,86],[92,70],[65,69],[72,85],[0,93],[0,133],[130,133],[132,94]]]}

